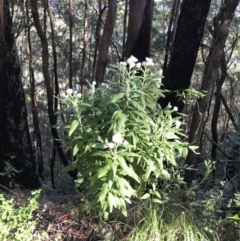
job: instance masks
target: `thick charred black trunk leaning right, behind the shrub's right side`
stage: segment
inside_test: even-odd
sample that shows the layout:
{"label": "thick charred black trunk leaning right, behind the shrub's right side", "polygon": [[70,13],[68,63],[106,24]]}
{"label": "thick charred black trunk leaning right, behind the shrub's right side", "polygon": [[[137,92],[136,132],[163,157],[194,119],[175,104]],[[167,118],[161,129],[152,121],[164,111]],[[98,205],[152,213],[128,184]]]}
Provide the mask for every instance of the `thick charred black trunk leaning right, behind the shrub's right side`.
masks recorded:
{"label": "thick charred black trunk leaning right, behind the shrub's right side", "polygon": [[177,30],[163,84],[171,92],[158,103],[165,108],[168,103],[182,112],[183,102],[176,91],[189,88],[197,53],[211,0],[183,0]]}

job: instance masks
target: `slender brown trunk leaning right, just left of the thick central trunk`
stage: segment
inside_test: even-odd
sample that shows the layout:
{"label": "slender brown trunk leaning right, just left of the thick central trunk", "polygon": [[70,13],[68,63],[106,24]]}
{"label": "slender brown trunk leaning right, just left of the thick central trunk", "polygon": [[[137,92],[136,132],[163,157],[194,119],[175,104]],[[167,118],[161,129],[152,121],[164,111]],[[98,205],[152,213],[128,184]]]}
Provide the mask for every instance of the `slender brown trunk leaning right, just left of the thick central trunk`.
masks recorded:
{"label": "slender brown trunk leaning right, just left of the thick central trunk", "polygon": [[95,81],[97,85],[101,84],[104,80],[104,73],[108,60],[108,49],[111,43],[112,34],[115,26],[117,14],[117,0],[108,1],[108,13],[107,19],[103,30],[103,35],[101,37],[101,42],[99,46],[97,66],[95,70]]}

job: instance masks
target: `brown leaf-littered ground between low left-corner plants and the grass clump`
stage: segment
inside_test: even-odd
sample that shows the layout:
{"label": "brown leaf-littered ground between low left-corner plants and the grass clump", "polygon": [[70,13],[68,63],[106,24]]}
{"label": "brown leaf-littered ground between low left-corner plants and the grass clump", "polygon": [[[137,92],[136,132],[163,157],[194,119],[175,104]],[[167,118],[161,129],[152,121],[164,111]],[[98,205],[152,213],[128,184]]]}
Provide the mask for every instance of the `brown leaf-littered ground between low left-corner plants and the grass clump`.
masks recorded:
{"label": "brown leaf-littered ground between low left-corner plants and the grass clump", "polygon": [[[25,205],[30,197],[29,191],[20,192],[20,197],[15,198],[17,206]],[[124,240],[127,235],[117,221],[100,222],[94,210],[87,209],[86,201],[76,191],[69,193],[61,186],[52,189],[50,185],[43,185],[38,201],[39,207],[33,216],[38,219],[36,231],[47,232],[49,237],[46,241]]]}

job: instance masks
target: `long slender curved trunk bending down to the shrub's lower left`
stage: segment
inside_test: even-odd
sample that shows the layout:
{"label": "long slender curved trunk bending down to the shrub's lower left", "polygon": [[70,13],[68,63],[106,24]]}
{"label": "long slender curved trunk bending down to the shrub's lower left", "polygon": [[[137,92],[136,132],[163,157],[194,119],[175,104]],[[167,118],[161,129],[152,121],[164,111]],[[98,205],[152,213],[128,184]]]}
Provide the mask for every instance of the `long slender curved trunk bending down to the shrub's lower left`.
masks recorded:
{"label": "long slender curved trunk bending down to the shrub's lower left", "polygon": [[[48,116],[49,116],[49,123],[51,126],[51,132],[52,136],[54,139],[54,145],[57,148],[58,155],[63,163],[64,166],[67,166],[69,164],[61,143],[59,141],[59,136],[57,133],[57,130],[53,128],[52,126],[56,124],[56,118],[55,118],[55,112],[54,112],[54,104],[53,104],[53,88],[51,84],[51,78],[49,75],[49,52],[48,52],[48,42],[47,42],[47,37],[44,34],[40,19],[39,19],[39,13],[38,13],[38,5],[37,1],[31,0],[31,7],[32,7],[32,16],[33,16],[33,21],[37,30],[37,33],[40,37],[41,40],[41,47],[42,47],[42,69],[43,69],[43,76],[44,76],[44,81],[45,81],[45,86],[47,90],[47,102],[48,102]],[[72,177],[75,177],[73,172],[69,173]]]}

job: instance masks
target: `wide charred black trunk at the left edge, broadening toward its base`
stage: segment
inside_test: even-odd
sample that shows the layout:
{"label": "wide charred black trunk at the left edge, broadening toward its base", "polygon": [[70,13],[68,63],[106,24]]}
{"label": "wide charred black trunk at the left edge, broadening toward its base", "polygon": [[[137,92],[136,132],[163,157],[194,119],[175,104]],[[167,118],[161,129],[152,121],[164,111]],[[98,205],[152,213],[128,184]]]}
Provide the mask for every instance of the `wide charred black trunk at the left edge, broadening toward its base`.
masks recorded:
{"label": "wide charred black trunk at the left edge, broadening toward its base", "polygon": [[40,186],[29,135],[9,1],[0,0],[0,172],[5,162],[21,170],[14,181],[30,188]]}

